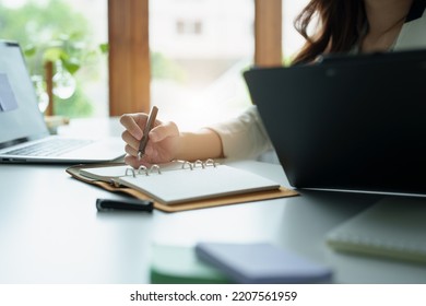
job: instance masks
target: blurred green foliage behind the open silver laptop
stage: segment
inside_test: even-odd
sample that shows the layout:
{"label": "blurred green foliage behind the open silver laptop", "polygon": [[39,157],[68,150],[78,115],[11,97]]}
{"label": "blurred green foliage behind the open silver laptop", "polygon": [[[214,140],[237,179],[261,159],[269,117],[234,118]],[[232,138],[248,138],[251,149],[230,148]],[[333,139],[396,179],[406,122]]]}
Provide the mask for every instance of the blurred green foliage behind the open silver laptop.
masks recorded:
{"label": "blurred green foliage behind the open silver laptop", "polygon": [[9,8],[0,0],[0,37],[20,43],[29,73],[44,78],[45,64],[50,61],[54,73],[58,75],[57,85],[75,86],[72,95],[54,98],[55,115],[93,115],[93,104],[84,95],[80,83],[96,78],[96,73],[92,71],[75,76],[82,68],[94,67],[99,56],[107,51],[107,45],[94,46],[90,30],[88,21],[73,10],[72,2],[28,0],[21,7]]}

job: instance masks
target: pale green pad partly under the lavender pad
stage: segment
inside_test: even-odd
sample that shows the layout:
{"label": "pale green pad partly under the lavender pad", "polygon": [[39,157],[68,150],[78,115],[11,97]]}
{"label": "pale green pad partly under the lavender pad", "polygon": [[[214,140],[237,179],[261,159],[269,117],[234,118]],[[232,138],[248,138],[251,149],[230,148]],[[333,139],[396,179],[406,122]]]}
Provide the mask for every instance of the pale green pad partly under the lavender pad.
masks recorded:
{"label": "pale green pad partly under the lavender pad", "polygon": [[230,283],[217,269],[201,262],[193,247],[153,245],[151,260],[153,284],[225,284]]}

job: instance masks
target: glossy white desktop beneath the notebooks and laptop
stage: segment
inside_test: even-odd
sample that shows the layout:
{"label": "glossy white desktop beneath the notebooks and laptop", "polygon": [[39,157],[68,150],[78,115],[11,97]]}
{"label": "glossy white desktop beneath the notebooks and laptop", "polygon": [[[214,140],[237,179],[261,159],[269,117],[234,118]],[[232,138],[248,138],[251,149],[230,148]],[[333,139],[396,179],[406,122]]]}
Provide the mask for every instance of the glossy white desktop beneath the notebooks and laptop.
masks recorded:
{"label": "glossy white desktop beneath the notebooks and laptop", "polygon": [[[121,133],[116,121],[96,125]],[[287,186],[279,165],[233,165]],[[324,245],[328,231],[377,196],[305,191],[179,213],[97,213],[96,198],[119,196],[71,178],[66,167],[0,165],[0,283],[146,283],[153,242],[200,240],[268,240],[330,264],[338,283],[426,283],[426,266],[335,254]]]}

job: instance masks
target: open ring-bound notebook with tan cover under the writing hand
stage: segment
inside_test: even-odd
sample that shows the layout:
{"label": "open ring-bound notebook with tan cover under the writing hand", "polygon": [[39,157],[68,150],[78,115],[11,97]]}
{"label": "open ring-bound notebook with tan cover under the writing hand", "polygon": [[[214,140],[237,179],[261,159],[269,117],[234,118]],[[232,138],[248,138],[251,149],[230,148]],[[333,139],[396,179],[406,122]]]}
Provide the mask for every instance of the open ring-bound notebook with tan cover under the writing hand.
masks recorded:
{"label": "open ring-bound notebook with tan cover under the writing hand", "polygon": [[[126,165],[82,166],[67,172],[87,183],[104,183],[102,187],[111,191],[152,198],[156,202],[154,207],[165,211],[297,195],[276,181],[212,160],[194,163],[177,161],[139,169]],[[167,207],[177,208],[169,210]]]}

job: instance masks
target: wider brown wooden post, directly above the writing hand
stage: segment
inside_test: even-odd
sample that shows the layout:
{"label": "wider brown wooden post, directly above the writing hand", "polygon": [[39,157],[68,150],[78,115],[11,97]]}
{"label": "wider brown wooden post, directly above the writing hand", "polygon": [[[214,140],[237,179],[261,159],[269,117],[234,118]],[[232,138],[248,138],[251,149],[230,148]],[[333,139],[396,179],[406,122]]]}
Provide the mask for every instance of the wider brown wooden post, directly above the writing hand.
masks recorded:
{"label": "wider brown wooden post, directly above the writing hand", "polygon": [[149,0],[108,0],[109,115],[150,109]]}

